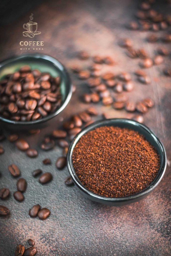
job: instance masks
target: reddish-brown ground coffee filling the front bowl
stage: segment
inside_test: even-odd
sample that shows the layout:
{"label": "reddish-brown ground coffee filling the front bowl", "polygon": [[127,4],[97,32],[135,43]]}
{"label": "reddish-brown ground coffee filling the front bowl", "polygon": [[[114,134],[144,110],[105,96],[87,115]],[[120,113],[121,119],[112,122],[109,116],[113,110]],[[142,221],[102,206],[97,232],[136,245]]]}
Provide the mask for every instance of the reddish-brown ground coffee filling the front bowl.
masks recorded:
{"label": "reddish-brown ground coffee filling the front bowl", "polygon": [[113,126],[84,134],[72,159],[82,184],[106,197],[129,196],[145,189],[160,166],[158,153],[143,135]]}

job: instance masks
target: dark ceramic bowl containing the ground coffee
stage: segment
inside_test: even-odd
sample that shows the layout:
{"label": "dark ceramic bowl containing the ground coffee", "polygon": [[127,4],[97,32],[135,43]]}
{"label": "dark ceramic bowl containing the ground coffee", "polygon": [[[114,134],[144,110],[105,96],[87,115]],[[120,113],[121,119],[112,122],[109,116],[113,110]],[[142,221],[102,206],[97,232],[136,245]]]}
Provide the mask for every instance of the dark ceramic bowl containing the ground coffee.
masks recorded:
{"label": "dark ceramic bowl containing the ground coffee", "polygon": [[[114,198],[114,197],[105,197],[105,196],[100,196],[98,194],[95,194],[94,192],[87,189],[81,183],[81,181],[79,180],[79,178],[75,173],[73,162],[72,162],[72,153],[73,153],[74,147],[77,144],[78,140],[81,138],[81,136],[83,136],[83,134],[85,134],[88,131],[94,130],[96,127],[101,127],[101,126],[126,127],[129,129],[138,131],[140,134],[143,134],[145,138],[156,148],[160,156],[160,168],[159,168],[157,177],[147,188],[145,188],[144,190],[132,196]],[[80,133],[78,133],[75,136],[73,142],[71,143],[71,146],[69,147],[69,151],[67,155],[67,165],[68,165],[69,173],[74,183],[77,185],[77,187],[86,197],[102,204],[106,204],[110,206],[121,206],[121,205],[126,205],[144,198],[159,184],[166,170],[166,152],[163,144],[154,135],[154,133],[149,130],[147,126],[129,119],[106,119],[103,121],[95,122],[85,127]]]}

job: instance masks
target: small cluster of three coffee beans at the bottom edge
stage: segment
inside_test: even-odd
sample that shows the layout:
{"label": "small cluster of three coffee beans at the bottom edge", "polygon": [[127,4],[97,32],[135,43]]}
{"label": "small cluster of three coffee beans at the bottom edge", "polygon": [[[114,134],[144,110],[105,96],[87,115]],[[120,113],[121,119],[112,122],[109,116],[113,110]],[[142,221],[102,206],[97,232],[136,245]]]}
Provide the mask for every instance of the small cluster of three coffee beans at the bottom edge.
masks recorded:
{"label": "small cluster of three coffee beans at the bottom edge", "polygon": [[15,250],[15,256],[34,256],[37,252],[36,247],[34,247],[35,242],[32,239],[28,239],[27,243],[31,245],[31,247],[25,249],[25,247],[21,244],[17,245]]}

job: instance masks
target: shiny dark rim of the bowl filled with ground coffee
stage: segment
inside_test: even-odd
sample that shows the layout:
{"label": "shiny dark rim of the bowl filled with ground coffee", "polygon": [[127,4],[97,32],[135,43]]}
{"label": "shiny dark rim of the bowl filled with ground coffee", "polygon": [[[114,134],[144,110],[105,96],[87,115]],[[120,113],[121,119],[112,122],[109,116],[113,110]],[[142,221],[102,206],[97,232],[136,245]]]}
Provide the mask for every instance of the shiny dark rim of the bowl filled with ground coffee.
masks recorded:
{"label": "shiny dark rim of the bowl filled with ground coffee", "polygon": [[[97,126],[105,126],[105,125],[110,125],[112,126],[111,122],[121,122],[121,123],[129,123],[135,126],[139,126],[142,130],[145,130],[152,138],[153,140],[158,144],[158,146],[160,147],[160,150],[162,152],[162,158],[163,158],[163,163],[162,165],[160,165],[159,168],[159,172],[158,175],[156,176],[156,178],[153,180],[153,182],[144,190],[134,194],[134,195],[130,195],[130,196],[125,196],[125,197],[105,197],[105,196],[100,196],[96,193],[94,193],[93,191],[87,189],[79,180],[79,178],[77,177],[77,174],[75,172],[73,163],[72,163],[72,153],[74,150],[75,145],[77,144],[78,140],[88,131],[95,129]],[[161,160],[161,157],[160,157]],[[165,173],[166,170],[166,151],[165,148],[162,144],[162,142],[160,142],[160,140],[156,137],[156,135],[144,124],[141,124],[137,121],[134,120],[130,120],[130,119],[126,119],[126,118],[113,118],[113,119],[106,119],[106,120],[100,120],[100,121],[96,121],[90,125],[88,125],[87,127],[85,127],[81,132],[79,132],[74,140],[72,141],[69,150],[68,150],[68,154],[67,154],[67,166],[68,166],[68,170],[69,170],[69,174],[71,175],[74,183],[77,185],[77,187],[79,189],[81,189],[85,194],[87,194],[90,197],[93,197],[94,200],[96,201],[106,201],[106,202],[125,202],[125,201],[130,201],[130,200],[135,200],[138,197],[144,196],[147,193],[149,193],[151,190],[153,190],[161,181],[161,179],[163,178],[163,175]]]}

